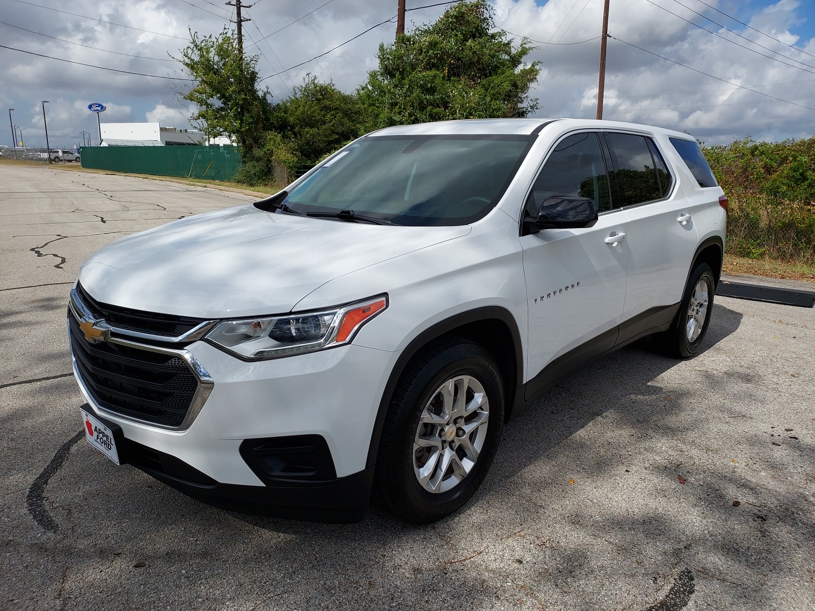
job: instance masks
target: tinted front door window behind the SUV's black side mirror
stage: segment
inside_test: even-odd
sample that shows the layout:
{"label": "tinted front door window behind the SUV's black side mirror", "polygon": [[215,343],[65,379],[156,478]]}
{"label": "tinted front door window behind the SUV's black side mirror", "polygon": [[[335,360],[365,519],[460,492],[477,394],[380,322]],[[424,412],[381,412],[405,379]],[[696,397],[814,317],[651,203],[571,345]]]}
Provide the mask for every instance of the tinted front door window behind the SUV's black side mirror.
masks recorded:
{"label": "tinted front door window behind the SUV's black side mirror", "polygon": [[553,196],[588,197],[600,212],[611,209],[606,164],[597,134],[575,134],[557,144],[535,179],[526,214],[537,216],[540,205]]}

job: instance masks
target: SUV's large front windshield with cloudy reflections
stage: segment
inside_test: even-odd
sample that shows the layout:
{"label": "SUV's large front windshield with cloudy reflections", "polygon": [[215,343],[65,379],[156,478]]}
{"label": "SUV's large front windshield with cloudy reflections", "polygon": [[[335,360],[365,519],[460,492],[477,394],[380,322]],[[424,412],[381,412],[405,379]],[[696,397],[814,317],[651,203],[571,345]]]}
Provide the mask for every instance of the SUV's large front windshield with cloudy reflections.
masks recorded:
{"label": "SUV's large front windshield with cloudy reflections", "polygon": [[299,213],[398,225],[465,225],[509,187],[535,136],[368,136],[319,166],[285,200]]}

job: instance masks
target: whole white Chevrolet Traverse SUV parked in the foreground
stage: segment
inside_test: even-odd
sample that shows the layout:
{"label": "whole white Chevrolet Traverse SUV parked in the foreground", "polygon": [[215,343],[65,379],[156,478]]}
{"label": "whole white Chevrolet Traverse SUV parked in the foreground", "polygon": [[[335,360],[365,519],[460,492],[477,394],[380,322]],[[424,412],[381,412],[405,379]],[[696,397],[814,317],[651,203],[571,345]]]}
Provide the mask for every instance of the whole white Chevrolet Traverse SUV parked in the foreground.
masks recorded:
{"label": "whole white Chevrolet Traverse SUV parked in the foreground", "polygon": [[102,248],[71,293],[88,440],[240,512],[460,508],[504,423],[637,338],[700,349],[727,200],[687,134],[403,125],[285,191]]}

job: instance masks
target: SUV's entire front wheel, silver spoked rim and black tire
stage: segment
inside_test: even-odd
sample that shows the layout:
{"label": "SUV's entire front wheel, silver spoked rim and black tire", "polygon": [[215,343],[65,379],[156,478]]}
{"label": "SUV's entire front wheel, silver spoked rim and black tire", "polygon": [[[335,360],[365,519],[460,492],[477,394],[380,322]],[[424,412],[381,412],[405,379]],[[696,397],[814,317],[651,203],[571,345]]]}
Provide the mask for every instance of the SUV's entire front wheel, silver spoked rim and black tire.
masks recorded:
{"label": "SUV's entire front wheel, silver spoked rim and black tire", "polygon": [[456,511],[480,486],[504,424],[498,367],[453,338],[427,349],[400,380],[382,429],[377,498],[415,524]]}

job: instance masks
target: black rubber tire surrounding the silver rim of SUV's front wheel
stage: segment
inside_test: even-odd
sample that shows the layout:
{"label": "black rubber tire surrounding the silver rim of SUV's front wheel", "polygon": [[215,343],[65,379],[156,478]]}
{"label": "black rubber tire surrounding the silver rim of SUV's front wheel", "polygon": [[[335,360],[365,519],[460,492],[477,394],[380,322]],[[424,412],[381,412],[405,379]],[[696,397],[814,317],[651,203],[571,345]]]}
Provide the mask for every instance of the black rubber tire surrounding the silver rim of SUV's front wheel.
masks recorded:
{"label": "black rubber tire surrounding the silver rim of SUV's front wheel", "polygon": [[[456,376],[472,376],[487,395],[486,437],[475,464],[465,477],[450,490],[430,492],[421,485],[414,471],[413,442],[425,406],[445,381]],[[425,349],[399,380],[385,417],[374,482],[378,504],[394,516],[414,524],[429,524],[455,512],[474,495],[487,475],[498,449],[503,425],[504,386],[498,367],[487,350],[473,341],[460,338],[450,338]],[[438,427],[439,431],[441,429]],[[458,430],[456,437],[452,438],[453,442],[458,438]],[[460,441],[458,445],[456,452],[464,452]],[[435,469],[434,473],[438,473],[439,468]],[[442,473],[441,477],[444,478],[444,475]],[[452,481],[455,480],[449,482]],[[447,485],[452,485],[449,482]]]}

